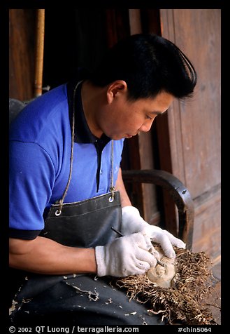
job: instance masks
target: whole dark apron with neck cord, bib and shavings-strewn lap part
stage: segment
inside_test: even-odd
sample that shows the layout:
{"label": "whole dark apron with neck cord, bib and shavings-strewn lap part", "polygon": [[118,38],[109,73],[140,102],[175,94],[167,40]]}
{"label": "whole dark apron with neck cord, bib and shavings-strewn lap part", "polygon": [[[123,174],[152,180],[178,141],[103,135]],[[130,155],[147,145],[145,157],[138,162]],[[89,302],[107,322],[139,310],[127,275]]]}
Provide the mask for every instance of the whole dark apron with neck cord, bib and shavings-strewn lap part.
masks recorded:
{"label": "whole dark apron with neck cord, bib and shavings-strewn lap part", "polygon": [[[120,193],[113,187],[113,141],[110,192],[85,201],[64,203],[73,166],[73,136],[74,112],[69,180],[62,199],[51,206],[40,236],[71,247],[103,246],[119,237],[111,227],[119,231],[122,222]],[[96,274],[27,273],[15,296],[17,304],[10,314],[10,322],[20,325],[67,323],[69,326],[73,323],[92,326],[161,324],[156,316],[148,316],[143,305],[129,301],[125,293],[110,286],[110,281],[111,277],[98,278]]]}

